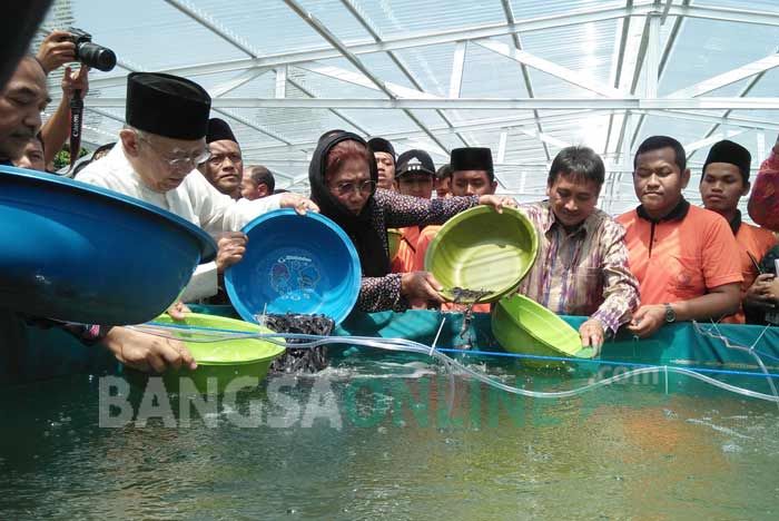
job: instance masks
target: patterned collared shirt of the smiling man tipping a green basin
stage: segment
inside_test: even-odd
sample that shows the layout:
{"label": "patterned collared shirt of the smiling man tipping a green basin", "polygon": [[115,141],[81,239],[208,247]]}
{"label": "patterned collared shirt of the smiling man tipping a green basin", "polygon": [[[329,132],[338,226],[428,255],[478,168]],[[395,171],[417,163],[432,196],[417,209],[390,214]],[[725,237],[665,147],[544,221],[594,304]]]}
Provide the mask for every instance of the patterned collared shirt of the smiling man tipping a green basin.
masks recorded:
{"label": "patterned collared shirt of the smiling man tipping a green basin", "polygon": [[639,306],[624,228],[599,209],[570,233],[549,201],[521,205],[520,210],[539,232],[539,253],[519,293],[555,313],[591,315],[617,332]]}

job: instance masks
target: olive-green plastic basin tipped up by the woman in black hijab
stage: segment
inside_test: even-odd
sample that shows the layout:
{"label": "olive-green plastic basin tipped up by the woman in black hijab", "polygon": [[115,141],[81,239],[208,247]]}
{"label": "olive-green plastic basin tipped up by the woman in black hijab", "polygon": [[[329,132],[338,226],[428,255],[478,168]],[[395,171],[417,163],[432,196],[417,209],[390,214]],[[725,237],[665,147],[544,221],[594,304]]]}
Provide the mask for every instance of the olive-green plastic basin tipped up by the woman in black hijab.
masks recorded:
{"label": "olive-green plastic basin tipped up by the woman in black hijab", "polygon": [[539,237],[517,209],[502,214],[476,206],[446,222],[425,254],[425,269],[444,286],[487,291],[480,302],[495,302],[522,282],[535,260]]}

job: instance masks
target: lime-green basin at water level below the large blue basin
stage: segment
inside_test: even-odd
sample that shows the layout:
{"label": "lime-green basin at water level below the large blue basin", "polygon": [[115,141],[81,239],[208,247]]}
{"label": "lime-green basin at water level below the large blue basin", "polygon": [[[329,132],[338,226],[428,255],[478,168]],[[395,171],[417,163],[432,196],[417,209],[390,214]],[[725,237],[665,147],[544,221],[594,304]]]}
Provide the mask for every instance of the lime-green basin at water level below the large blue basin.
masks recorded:
{"label": "lime-green basin at water level below the large blue basin", "polygon": [[[262,327],[257,324],[196,313],[188,313],[183,322],[174,321],[168,315],[162,315],[156,318],[155,322],[230,332],[274,333],[267,327]],[[259,383],[268,373],[270,363],[285,351],[283,346],[267,342],[264,338],[187,342],[188,337],[191,338],[197,336],[197,334],[189,334],[186,331],[177,333],[177,336],[195,357],[197,368],[194,371],[180,368],[166,372],[162,375],[162,380],[168,392],[179,392],[181,379],[191,380],[195,389],[201,394],[208,393],[209,379],[213,379],[211,389],[216,389],[216,392],[219,394],[224,393],[225,390],[230,391],[241,383],[249,382],[245,379],[237,381],[239,377],[254,379]],[[230,383],[233,383],[231,387]]]}

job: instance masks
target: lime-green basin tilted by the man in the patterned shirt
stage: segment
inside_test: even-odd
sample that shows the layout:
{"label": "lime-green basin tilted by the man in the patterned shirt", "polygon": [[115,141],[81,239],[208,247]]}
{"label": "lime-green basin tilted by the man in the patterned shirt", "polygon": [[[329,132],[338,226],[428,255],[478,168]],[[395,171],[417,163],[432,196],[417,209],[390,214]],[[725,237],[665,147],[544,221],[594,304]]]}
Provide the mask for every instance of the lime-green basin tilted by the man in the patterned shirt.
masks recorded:
{"label": "lime-green basin tilted by the man in the patterned shirt", "polygon": [[[582,347],[579,332],[553,312],[523,296],[502,298],[492,316],[492,333],[505,351],[538,356],[592,358],[594,351]],[[523,358],[532,367],[559,367],[554,361]]]}

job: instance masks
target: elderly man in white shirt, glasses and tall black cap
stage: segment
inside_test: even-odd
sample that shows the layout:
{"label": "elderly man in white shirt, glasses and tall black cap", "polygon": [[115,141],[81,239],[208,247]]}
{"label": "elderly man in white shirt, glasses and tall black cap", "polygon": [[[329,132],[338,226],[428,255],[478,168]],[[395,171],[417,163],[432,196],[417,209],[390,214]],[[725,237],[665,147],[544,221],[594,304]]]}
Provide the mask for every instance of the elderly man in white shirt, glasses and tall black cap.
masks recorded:
{"label": "elderly man in white shirt, glasses and tall black cap", "polygon": [[[318,212],[297,194],[234,200],[214,188],[196,170],[209,157],[205,140],[209,112],[210,97],[199,85],[170,75],[134,72],[127,78],[127,125],[118,146],[77,177],[167,209],[218,238],[216,262],[198,267],[181,297],[185,302],[217,293],[217,273],[243,257],[246,236],[238,230],[249,220],[282,207]],[[140,237],[139,247],[144,247]],[[170,311],[175,317],[179,312],[180,307]],[[179,345],[162,351],[161,358],[170,365],[180,363],[181,356],[190,360]]]}

